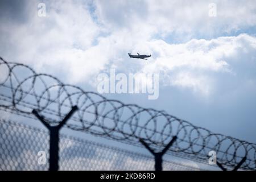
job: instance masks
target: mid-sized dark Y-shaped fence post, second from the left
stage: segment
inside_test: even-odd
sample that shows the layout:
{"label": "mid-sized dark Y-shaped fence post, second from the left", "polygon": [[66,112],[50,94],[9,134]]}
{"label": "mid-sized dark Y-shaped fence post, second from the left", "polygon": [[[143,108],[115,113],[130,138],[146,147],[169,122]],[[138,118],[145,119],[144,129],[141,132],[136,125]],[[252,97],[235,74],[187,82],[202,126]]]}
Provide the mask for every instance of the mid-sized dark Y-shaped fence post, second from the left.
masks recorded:
{"label": "mid-sized dark Y-shaped fence post, second from the left", "polygon": [[155,157],[155,171],[162,171],[162,163],[163,163],[163,155],[166,153],[166,151],[172,146],[172,144],[177,139],[176,136],[172,138],[172,140],[167,144],[167,146],[163,149],[162,152],[154,152],[146,142],[144,142],[143,139],[139,139],[139,142],[143,144],[144,147],[147,148],[148,151],[151,152],[152,155]]}

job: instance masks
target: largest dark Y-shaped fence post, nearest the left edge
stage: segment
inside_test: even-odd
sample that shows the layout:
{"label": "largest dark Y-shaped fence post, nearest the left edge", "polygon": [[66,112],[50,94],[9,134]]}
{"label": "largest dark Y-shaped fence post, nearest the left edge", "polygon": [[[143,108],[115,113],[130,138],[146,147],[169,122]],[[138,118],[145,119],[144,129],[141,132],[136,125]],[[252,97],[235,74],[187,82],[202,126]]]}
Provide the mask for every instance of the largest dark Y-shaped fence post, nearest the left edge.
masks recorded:
{"label": "largest dark Y-shaped fence post, nearest the left edge", "polygon": [[57,126],[49,125],[49,123],[47,123],[44,118],[38,114],[38,111],[35,109],[32,110],[32,113],[43,123],[44,126],[47,127],[50,133],[49,171],[57,171],[59,169],[59,131],[77,109],[77,106],[73,106],[71,111],[69,111],[63,121],[61,121]]}

